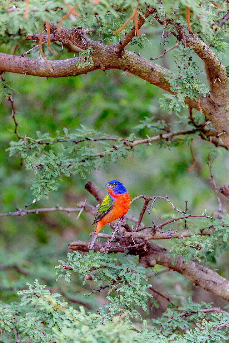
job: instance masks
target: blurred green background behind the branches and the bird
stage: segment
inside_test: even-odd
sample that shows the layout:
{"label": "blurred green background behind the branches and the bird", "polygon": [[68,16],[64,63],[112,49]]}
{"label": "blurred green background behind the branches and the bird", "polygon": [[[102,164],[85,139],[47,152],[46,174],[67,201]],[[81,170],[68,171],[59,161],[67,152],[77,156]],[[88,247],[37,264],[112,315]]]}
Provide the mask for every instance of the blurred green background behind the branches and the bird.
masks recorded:
{"label": "blurred green background behind the branches and the bird", "polygon": [[[173,45],[174,42],[171,42]],[[152,43],[148,43],[143,51],[143,57],[152,56]],[[135,47],[136,49],[136,47]],[[132,49],[134,50],[134,49]],[[159,55],[163,46],[153,47],[153,56]],[[17,55],[21,51],[17,52]],[[60,58],[72,57],[73,53],[63,52]],[[33,57],[33,56],[31,56]],[[172,54],[167,54],[163,60],[157,60],[173,71],[175,63]],[[41,79],[32,76],[4,74],[4,78],[13,82],[14,106],[17,111],[16,118],[20,120],[19,133],[21,136],[35,137],[36,130],[41,133],[49,132],[55,135],[56,130],[62,131],[67,127],[74,132],[80,124],[96,129],[106,134],[128,136],[133,127],[139,124],[144,117],[155,116],[170,124],[172,129],[182,129],[174,123],[178,118],[172,114],[164,113],[158,104],[163,91],[144,82],[137,77],[122,71],[95,71],[76,78]],[[204,80],[204,74],[203,74]],[[187,108],[182,115],[188,114]],[[14,129],[11,115],[11,105],[5,100],[0,104],[0,212],[13,212],[17,206],[23,208],[33,200],[31,187],[32,171],[26,171],[20,165],[17,157],[9,158],[6,149],[12,139],[17,139],[9,130]],[[197,112],[194,115],[197,115]],[[146,138],[152,135],[150,130],[135,130],[137,137]],[[118,159],[117,163],[110,162],[108,168],[92,171],[87,180],[79,175],[63,178],[58,191],[50,193],[49,199],[41,199],[30,206],[32,208],[77,207],[77,202],[84,201],[96,205],[95,199],[84,189],[87,181],[93,180],[104,191],[105,184],[112,179],[118,179],[129,191],[131,198],[145,193],[147,196],[168,196],[174,205],[185,209],[188,200],[188,211],[195,214],[206,212],[211,214],[217,210],[217,199],[209,181],[207,158],[216,156],[212,166],[217,186],[229,182],[228,153],[222,148],[201,141],[193,141],[193,153],[197,164],[192,171],[187,171],[193,164],[188,143],[171,147],[161,146],[160,143],[141,145],[138,155],[128,160]],[[223,205],[228,211],[227,200],[222,198]],[[130,214],[138,216],[143,205],[139,199],[130,208]],[[145,213],[143,222],[150,225],[152,221],[159,223],[164,213],[173,214],[171,206],[163,200],[157,200],[152,214]],[[59,259],[66,259],[68,243],[75,239],[88,240],[92,230],[92,215],[82,213],[78,220],[77,214],[53,212],[30,214],[23,217],[0,217],[0,298],[3,301],[17,299],[15,291],[25,287],[26,282],[38,278],[47,284],[53,292],[63,294],[68,302],[86,304],[93,309],[94,304],[100,306],[106,301],[103,293],[92,294],[85,298],[93,284],[89,281],[82,285],[74,275],[72,282],[65,280],[56,282],[54,266]],[[199,221],[200,223],[200,221]],[[193,221],[193,225],[195,221]],[[173,228],[176,226],[174,225]],[[108,227],[104,232],[109,233]],[[157,241],[159,245],[169,248],[169,240]],[[219,273],[229,276],[225,263],[228,255],[217,262]],[[179,294],[184,300],[192,295],[194,301],[214,301],[216,305],[223,305],[219,300],[202,289],[193,289],[192,284],[182,275],[172,271],[164,271],[163,267],[156,266],[158,275],[150,279],[155,288],[167,295]],[[154,271],[152,271],[154,273]],[[152,273],[151,273],[152,274]],[[104,291],[103,291],[104,292]],[[155,295],[155,298],[158,296]],[[151,315],[156,317],[166,306],[166,300],[159,297],[160,308],[149,308]],[[98,306],[96,304],[95,309]]]}

